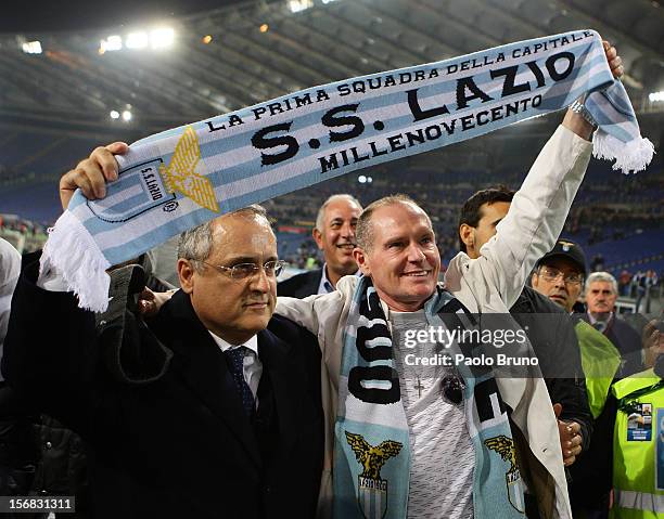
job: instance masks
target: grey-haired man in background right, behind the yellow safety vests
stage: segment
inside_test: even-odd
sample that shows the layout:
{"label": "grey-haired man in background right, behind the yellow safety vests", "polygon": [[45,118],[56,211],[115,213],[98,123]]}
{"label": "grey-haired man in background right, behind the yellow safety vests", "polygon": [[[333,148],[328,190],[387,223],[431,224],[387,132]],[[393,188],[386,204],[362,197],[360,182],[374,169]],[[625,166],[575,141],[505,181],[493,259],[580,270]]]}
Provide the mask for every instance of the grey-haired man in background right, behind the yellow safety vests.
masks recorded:
{"label": "grey-haired man in background right, behind the yellow safety vests", "polygon": [[617,282],[609,272],[593,272],[586,281],[586,306],[582,319],[613,342],[623,358],[618,377],[624,378],[643,371],[640,335],[615,315]]}

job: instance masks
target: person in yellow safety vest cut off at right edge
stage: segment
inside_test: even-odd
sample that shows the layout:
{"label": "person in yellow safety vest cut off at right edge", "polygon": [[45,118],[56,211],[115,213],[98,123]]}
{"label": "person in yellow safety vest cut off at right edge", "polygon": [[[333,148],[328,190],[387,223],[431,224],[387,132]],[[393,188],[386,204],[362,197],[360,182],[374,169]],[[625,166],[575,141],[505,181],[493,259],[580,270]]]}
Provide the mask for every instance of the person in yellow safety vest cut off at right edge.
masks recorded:
{"label": "person in yellow safety vest cut off at right edge", "polygon": [[[613,440],[614,519],[664,518],[664,335],[651,322],[643,329],[644,372],[615,382]],[[660,355],[655,364],[653,356]]]}

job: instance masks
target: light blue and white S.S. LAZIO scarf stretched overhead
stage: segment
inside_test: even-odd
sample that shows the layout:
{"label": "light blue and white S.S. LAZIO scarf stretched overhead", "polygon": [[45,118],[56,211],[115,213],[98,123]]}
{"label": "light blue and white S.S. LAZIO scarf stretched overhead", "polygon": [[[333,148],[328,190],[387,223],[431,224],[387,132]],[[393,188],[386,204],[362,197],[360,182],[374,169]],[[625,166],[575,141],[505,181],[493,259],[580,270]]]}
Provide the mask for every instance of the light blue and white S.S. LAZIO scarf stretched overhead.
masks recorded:
{"label": "light blue and white S.S. LAZIO scarf stretched overhead", "polygon": [[107,306],[105,270],[169,237],[353,170],[482,135],[590,93],[599,156],[650,161],[599,36],[577,30],[315,87],[142,139],[104,199],[77,193],[42,256],[80,306]]}

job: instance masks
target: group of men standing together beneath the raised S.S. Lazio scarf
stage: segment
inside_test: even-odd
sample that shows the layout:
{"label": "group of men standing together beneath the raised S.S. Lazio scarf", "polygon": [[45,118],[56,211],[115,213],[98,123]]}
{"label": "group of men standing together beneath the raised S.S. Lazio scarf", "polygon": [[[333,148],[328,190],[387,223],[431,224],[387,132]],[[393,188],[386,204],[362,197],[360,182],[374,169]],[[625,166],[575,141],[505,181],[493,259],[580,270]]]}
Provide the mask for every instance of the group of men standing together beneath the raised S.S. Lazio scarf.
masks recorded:
{"label": "group of men standing together beneath the raised S.S. Lazio scarf", "polygon": [[[592,130],[569,111],[519,191],[454,215],[331,194],[323,263],[279,284],[260,206],[180,236],[179,289],[110,269],[101,314],[0,241],[0,493],[102,518],[660,517],[661,320],[623,321],[560,238]],[[62,177],[63,207],[117,176],[112,150]]]}

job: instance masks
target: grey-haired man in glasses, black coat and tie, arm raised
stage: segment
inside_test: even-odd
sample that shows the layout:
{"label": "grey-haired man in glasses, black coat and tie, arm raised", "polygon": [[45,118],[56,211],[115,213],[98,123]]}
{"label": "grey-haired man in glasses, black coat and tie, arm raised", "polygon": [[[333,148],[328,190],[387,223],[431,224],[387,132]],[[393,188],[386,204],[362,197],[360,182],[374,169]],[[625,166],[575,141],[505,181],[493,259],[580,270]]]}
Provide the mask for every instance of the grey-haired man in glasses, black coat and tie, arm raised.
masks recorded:
{"label": "grey-haired man in glasses, black coat and tie, arm raised", "polygon": [[[272,317],[280,270],[258,207],[182,235],[182,289],[146,324],[124,303],[95,324],[72,294],[53,291],[58,272],[26,268],[3,372],[90,445],[95,517],[315,515],[320,350]],[[118,299],[131,307],[137,289],[115,290],[110,311]]]}

